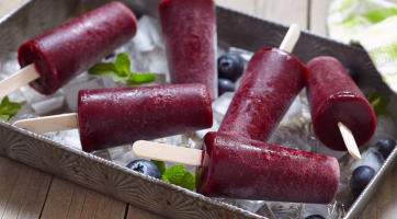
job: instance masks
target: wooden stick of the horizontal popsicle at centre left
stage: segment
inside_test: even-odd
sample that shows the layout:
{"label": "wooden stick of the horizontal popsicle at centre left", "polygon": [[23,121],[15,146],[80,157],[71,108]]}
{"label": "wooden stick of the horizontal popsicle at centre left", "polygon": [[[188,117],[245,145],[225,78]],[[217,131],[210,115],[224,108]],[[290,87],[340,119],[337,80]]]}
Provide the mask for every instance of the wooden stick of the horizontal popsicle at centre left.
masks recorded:
{"label": "wooden stick of the horizontal popsicle at centre left", "polygon": [[79,122],[77,118],[77,113],[70,113],[18,120],[13,125],[32,132],[42,134],[48,131],[75,129],[79,127]]}

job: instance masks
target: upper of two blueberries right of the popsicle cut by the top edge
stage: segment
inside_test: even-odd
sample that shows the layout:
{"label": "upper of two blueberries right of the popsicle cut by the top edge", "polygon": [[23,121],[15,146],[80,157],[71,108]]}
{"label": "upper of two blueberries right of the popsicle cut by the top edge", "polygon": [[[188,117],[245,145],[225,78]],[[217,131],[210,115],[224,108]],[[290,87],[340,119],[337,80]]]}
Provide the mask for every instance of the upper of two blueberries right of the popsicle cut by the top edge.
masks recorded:
{"label": "upper of two blueberries right of the popsicle cut by the top edge", "polygon": [[218,78],[236,82],[242,74],[243,62],[235,54],[224,54],[218,58]]}

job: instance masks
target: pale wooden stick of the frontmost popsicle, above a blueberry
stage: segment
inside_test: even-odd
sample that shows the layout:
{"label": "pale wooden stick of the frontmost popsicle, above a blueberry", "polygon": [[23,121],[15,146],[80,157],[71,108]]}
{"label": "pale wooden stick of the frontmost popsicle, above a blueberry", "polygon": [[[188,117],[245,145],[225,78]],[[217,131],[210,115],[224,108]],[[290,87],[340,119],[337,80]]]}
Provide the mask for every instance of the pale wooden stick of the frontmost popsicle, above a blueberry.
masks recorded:
{"label": "pale wooden stick of the frontmost popsicle, above a blueberry", "polygon": [[201,166],[203,150],[138,140],[133,153],[139,158]]}

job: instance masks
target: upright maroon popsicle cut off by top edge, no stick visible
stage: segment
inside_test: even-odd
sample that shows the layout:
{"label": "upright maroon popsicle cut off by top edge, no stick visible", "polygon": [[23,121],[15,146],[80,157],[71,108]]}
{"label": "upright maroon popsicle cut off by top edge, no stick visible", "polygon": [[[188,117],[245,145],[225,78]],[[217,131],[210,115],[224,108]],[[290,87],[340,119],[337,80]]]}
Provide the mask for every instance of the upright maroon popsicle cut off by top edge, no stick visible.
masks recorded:
{"label": "upright maroon popsicle cut off by top edge, no stick visible", "polygon": [[171,83],[204,83],[218,96],[213,0],[163,0],[158,10]]}

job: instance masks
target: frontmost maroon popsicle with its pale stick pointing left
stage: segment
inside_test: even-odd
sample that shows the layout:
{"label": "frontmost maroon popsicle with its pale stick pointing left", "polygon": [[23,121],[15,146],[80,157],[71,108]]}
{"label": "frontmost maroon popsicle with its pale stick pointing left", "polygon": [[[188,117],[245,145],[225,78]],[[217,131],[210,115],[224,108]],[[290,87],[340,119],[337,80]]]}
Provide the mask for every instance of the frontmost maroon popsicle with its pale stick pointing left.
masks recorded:
{"label": "frontmost maroon popsicle with its pale stick pointing left", "polygon": [[205,196],[328,204],[338,191],[336,158],[247,138],[208,132],[202,150],[136,141],[135,155],[195,165]]}

